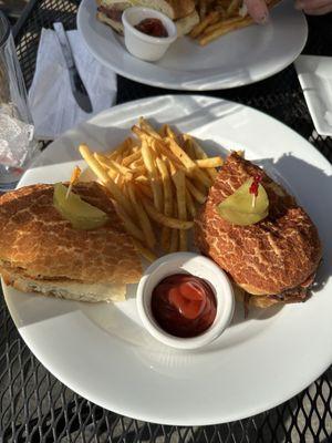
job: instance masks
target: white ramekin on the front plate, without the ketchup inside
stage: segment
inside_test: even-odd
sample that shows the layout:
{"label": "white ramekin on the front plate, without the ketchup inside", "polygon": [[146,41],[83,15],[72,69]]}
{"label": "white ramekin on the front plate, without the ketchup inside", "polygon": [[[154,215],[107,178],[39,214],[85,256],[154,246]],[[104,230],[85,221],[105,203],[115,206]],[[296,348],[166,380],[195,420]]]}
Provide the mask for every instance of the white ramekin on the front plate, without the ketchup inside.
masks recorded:
{"label": "white ramekin on the front plate, without the ketchup inside", "polygon": [[[191,274],[209,282],[217,300],[214,323],[200,336],[178,338],[164,331],[155,321],[151,299],[157,284],[174,274]],[[227,275],[209,258],[193,253],[169,254],[154,261],[144,272],[137,288],[137,310],[146,330],[157,340],[177,349],[196,349],[210,343],[232,319],[235,297]]]}

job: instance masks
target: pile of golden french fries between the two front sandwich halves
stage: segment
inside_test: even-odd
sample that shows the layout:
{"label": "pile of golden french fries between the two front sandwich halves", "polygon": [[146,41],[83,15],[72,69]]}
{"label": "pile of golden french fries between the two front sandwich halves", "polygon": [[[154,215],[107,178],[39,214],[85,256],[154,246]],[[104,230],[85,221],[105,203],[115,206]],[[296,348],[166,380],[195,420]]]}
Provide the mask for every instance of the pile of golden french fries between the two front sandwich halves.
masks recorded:
{"label": "pile of golden french fries between the two front sandwich halves", "polygon": [[156,131],[145,119],[133,136],[104,154],[80,145],[80,153],[110,190],[137,250],[149,261],[188,250],[188,231],[207,197],[221,157],[208,157],[188,134],[168,125]]}

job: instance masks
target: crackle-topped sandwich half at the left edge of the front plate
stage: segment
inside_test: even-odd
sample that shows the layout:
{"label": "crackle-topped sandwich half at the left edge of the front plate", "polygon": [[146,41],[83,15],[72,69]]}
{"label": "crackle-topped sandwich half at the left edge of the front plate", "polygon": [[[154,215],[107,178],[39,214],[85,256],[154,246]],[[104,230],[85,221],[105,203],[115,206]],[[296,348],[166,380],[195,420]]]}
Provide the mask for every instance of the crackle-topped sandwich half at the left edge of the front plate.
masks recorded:
{"label": "crackle-topped sandwich half at the left edge of the front plate", "polygon": [[0,197],[0,274],[23,292],[80,301],[117,301],[142,276],[141,261],[107,190],[95,182],[73,192],[107,215],[91,230],[74,229],[53,205],[53,185]]}

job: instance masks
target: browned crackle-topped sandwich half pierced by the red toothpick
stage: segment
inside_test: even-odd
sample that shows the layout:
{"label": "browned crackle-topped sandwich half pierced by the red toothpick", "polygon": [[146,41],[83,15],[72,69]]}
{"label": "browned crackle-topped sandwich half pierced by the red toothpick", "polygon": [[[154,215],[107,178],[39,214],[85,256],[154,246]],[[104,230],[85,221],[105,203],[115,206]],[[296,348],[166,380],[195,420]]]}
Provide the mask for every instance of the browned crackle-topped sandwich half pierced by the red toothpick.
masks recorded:
{"label": "browned crackle-topped sandwich half pierced by the red toothpick", "polygon": [[[216,207],[250,177],[262,175],[269,215],[234,225]],[[195,241],[247,293],[249,305],[304,301],[322,259],[318,230],[295,199],[257,165],[236,153],[228,156],[195,220]]]}

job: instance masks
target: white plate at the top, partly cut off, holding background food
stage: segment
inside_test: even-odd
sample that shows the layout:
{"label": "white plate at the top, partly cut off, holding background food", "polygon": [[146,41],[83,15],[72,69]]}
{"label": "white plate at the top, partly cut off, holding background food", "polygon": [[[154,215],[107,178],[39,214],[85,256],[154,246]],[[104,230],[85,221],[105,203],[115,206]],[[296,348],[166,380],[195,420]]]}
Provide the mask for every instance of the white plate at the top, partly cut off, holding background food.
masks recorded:
{"label": "white plate at the top, partly cut off, holding background food", "polygon": [[278,4],[269,24],[232,32],[205,48],[189,38],[179,39],[158,63],[131,55],[123,39],[96,20],[95,0],[81,2],[77,28],[94,56],[118,74],[154,86],[195,91],[266,79],[295,60],[308,35],[304,16],[292,1]]}

